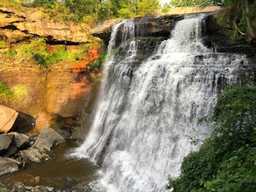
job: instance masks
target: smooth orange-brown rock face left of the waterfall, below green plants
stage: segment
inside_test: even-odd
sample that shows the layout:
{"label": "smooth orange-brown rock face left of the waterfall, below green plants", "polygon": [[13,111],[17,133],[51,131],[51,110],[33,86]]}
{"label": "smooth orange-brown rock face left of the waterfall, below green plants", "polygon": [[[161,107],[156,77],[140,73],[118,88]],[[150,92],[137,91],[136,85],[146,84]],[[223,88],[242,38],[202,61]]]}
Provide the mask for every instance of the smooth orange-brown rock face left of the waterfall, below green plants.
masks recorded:
{"label": "smooth orange-brown rock face left of the waterfall, below green plants", "polygon": [[[48,46],[51,50],[51,46]],[[22,84],[28,95],[23,102],[1,100],[0,103],[17,111],[29,113],[37,119],[40,131],[57,117],[70,118],[80,114],[86,97],[100,78],[86,65],[98,58],[100,46],[93,46],[79,62],[52,65],[47,70],[38,65],[19,64],[17,61],[0,60],[0,80],[9,87]]]}

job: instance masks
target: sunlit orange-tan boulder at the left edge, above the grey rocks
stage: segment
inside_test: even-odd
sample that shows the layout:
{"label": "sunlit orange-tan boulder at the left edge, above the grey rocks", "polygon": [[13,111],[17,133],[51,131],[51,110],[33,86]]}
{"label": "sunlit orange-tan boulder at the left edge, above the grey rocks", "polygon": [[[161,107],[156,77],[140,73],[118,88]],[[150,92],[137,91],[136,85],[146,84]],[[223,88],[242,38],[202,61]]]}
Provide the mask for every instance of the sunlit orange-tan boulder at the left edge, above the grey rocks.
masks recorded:
{"label": "sunlit orange-tan boulder at the left edge, above the grey rocks", "polygon": [[17,111],[0,105],[0,133],[7,133],[17,119]]}

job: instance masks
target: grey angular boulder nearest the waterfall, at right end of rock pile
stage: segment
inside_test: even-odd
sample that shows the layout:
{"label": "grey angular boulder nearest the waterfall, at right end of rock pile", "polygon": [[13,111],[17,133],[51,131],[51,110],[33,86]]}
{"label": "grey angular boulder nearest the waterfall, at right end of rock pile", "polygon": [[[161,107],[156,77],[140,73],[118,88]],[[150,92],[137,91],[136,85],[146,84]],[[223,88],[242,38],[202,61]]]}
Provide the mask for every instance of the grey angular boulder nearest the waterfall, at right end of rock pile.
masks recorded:
{"label": "grey angular boulder nearest the waterfall, at right end of rock pile", "polygon": [[42,151],[51,151],[52,147],[63,142],[65,142],[65,139],[60,134],[54,131],[51,127],[45,127],[38,135],[34,147]]}

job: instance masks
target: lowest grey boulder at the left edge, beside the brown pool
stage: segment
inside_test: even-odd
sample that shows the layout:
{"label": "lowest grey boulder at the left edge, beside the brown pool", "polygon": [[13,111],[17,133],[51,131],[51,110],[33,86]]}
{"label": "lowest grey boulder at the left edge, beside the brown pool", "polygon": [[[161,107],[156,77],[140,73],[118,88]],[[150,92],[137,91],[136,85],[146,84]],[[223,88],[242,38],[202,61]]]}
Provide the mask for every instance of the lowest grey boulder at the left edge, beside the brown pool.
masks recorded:
{"label": "lowest grey boulder at the left edge, beside the brown pool", "polygon": [[19,161],[10,158],[0,157],[0,176],[9,174],[18,170]]}

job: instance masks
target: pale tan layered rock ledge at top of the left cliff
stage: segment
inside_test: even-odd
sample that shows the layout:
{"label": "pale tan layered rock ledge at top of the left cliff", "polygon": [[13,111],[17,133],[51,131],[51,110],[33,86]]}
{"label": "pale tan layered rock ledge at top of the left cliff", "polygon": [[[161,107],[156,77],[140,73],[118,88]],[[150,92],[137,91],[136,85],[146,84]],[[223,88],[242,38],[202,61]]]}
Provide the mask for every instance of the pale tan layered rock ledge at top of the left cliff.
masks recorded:
{"label": "pale tan layered rock ledge at top of the left cliff", "polygon": [[88,29],[86,24],[53,21],[40,10],[0,8],[0,37],[9,42],[45,37],[52,43],[85,43]]}

